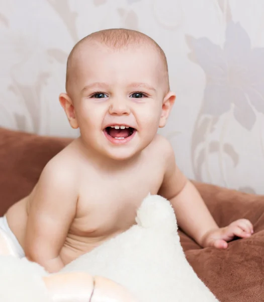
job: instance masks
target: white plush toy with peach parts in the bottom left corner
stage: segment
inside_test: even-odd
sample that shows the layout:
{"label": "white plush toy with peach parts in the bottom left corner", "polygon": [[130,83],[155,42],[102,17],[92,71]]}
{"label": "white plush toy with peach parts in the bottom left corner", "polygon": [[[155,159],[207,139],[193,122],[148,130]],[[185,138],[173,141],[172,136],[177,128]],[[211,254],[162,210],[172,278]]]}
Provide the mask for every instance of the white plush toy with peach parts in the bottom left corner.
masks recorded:
{"label": "white plush toy with peach parts in the bottom left corner", "polygon": [[137,302],[119,284],[85,272],[48,274],[37,263],[19,259],[0,229],[1,302]]}

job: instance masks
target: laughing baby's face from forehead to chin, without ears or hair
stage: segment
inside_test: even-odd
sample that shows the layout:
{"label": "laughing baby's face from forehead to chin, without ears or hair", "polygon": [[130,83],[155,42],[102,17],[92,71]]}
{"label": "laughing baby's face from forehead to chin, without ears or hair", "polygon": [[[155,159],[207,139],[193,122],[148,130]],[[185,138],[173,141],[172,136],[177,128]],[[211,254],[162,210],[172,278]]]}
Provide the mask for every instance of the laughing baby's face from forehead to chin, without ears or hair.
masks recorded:
{"label": "laughing baby's face from forehead to chin, without ears or hair", "polygon": [[82,51],[72,91],[83,141],[115,160],[144,149],[160,126],[162,70],[150,47],[113,51],[93,45]]}

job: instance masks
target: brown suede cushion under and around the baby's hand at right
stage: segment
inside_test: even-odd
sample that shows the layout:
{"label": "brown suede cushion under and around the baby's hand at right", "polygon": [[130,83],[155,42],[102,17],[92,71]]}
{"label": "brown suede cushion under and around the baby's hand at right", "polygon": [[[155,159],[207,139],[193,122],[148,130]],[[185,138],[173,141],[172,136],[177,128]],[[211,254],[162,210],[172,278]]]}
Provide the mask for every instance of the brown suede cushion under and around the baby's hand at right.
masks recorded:
{"label": "brown suede cushion under and around the baby's hand at right", "polygon": [[198,276],[221,302],[264,300],[264,196],[195,182],[220,226],[247,218],[255,233],[229,243],[227,250],[201,249],[181,232],[181,242]]}

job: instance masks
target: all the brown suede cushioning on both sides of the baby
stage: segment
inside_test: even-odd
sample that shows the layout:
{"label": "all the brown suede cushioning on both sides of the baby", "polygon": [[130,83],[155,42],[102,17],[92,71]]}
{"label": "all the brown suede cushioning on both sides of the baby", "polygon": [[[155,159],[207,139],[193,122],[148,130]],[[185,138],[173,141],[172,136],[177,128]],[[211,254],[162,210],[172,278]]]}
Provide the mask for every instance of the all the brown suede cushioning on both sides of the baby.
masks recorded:
{"label": "all the brown suede cushioning on both sides of the baby", "polygon": [[[0,128],[0,215],[32,190],[49,159],[70,141]],[[264,196],[194,183],[220,226],[245,217],[255,234],[221,251],[201,249],[180,232],[187,259],[221,302],[264,301]]]}

